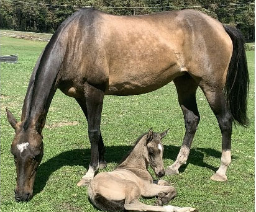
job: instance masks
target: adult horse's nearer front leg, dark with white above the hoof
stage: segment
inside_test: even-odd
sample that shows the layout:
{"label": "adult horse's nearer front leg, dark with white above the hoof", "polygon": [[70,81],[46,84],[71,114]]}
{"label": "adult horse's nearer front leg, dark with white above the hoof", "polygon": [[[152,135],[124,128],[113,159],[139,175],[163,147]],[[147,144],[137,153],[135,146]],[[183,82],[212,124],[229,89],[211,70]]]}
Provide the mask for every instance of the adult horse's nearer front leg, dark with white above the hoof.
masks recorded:
{"label": "adult horse's nearer front leg, dark with white above the hoof", "polygon": [[[97,87],[85,84],[85,102],[87,108],[88,134],[91,143],[91,162],[88,172],[78,182],[78,186],[88,185],[99,169],[99,145],[101,138],[101,112],[103,108],[104,92]],[[101,138],[102,139],[102,138]],[[102,148],[102,147],[101,147]]]}

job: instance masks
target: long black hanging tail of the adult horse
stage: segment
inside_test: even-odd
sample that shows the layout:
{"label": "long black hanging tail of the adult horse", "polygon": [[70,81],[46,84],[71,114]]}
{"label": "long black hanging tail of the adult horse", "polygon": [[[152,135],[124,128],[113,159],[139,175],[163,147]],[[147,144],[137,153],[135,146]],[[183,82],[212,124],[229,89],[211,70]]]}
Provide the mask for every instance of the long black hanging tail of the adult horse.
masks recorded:
{"label": "long black hanging tail of the adult horse", "polygon": [[224,92],[234,121],[239,125],[249,125],[247,118],[247,96],[249,92],[249,73],[245,55],[245,41],[239,30],[229,25],[224,29],[231,37],[233,54],[229,63]]}

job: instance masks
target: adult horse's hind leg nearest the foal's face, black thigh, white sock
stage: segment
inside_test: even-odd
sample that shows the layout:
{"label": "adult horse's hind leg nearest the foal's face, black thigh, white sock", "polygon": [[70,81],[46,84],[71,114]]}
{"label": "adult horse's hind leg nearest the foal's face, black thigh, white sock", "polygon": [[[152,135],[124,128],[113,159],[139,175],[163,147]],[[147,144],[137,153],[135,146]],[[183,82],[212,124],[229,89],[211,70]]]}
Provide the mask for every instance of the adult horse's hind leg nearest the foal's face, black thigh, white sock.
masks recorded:
{"label": "adult horse's hind leg nearest the foal's face, black thigh, white sock", "polygon": [[179,174],[178,169],[181,165],[186,164],[188,155],[190,154],[191,144],[200,120],[198,107],[196,104],[196,89],[198,84],[188,74],[174,79],[178,100],[184,115],[186,133],[180,152],[176,161],[167,168],[166,174]]}

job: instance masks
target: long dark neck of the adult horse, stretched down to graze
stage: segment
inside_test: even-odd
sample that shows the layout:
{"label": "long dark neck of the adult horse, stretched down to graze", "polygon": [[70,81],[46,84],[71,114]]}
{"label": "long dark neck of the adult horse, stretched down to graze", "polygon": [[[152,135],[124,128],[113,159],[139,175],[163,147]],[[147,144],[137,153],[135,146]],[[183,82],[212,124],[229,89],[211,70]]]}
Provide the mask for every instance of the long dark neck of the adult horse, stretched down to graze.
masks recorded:
{"label": "long dark neck of the adult horse, stretched down to graze", "polygon": [[39,124],[42,130],[48,108],[57,90],[57,77],[65,54],[59,29],[40,55],[30,77],[29,87],[22,107],[21,121],[24,129]]}

